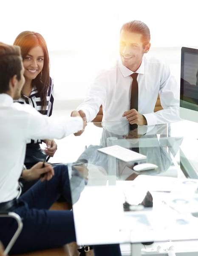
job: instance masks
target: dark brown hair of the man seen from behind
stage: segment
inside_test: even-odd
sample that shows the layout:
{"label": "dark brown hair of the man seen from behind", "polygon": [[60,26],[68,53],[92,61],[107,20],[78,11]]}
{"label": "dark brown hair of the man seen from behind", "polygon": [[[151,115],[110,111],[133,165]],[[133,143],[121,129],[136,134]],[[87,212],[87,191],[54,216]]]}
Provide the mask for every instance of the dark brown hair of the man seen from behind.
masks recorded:
{"label": "dark brown hair of the man seen from behind", "polygon": [[14,75],[18,81],[21,79],[21,61],[20,47],[0,42],[0,93],[8,92],[9,81]]}

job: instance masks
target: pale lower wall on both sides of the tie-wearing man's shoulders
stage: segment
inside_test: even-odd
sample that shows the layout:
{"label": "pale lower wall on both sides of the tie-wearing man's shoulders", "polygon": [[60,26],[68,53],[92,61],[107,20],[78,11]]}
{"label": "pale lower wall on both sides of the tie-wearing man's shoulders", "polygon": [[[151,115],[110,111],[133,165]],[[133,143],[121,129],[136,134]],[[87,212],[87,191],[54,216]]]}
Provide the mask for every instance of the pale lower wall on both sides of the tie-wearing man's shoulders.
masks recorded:
{"label": "pale lower wall on both sides of the tie-wearing man's shoulders", "polygon": [[[180,83],[181,47],[151,48],[147,55],[154,55],[168,62],[172,74]],[[55,107],[74,108],[85,98],[86,90],[96,73],[115,63],[116,52],[87,55],[80,52],[50,52],[51,76],[55,86]],[[59,101],[59,102],[57,102]]]}

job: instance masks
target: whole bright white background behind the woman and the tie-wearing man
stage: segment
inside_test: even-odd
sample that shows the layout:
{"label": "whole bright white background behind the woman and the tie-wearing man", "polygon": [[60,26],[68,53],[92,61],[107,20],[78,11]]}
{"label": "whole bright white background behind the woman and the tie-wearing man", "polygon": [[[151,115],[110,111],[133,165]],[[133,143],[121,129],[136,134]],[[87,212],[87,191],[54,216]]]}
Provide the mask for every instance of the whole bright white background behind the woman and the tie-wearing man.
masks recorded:
{"label": "whole bright white background behind the woman and the tie-wearing man", "polygon": [[149,54],[165,58],[179,81],[181,46],[198,46],[197,9],[196,0],[3,1],[0,41],[12,44],[24,30],[40,32],[50,53],[56,101],[80,101],[97,71],[118,58],[119,29],[129,20],[149,26]]}

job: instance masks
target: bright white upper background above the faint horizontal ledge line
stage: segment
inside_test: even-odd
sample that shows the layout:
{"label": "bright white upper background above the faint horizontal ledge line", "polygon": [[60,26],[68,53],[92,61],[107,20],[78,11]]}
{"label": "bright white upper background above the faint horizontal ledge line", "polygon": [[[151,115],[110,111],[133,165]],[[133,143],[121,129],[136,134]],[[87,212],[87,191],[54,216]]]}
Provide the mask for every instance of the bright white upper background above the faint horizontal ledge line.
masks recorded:
{"label": "bright white upper background above the faint horizontal ledge line", "polygon": [[142,20],[154,47],[198,45],[197,0],[1,0],[1,41],[24,30],[40,32],[49,50],[116,49],[119,29]]}

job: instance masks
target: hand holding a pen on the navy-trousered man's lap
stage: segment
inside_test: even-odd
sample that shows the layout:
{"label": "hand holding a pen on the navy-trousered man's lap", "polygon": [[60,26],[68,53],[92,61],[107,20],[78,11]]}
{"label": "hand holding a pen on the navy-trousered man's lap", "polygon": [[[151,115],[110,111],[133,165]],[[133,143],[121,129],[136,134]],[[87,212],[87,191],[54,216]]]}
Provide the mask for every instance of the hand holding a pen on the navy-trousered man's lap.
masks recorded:
{"label": "hand holding a pen on the navy-trousered man's lap", "polygon": [[51,180],[51,178],[54,176],[54,169],[49,163],[45,163],[45,167],[42,168],[43,163],[39,162],[32,166],[31,169],[23,170],[22,178],[24,180],[30,181],[30,180],[37,180],[40,178],[42,174],[45,174],[44,177],[42,177],[41,181],[44,180]]}

